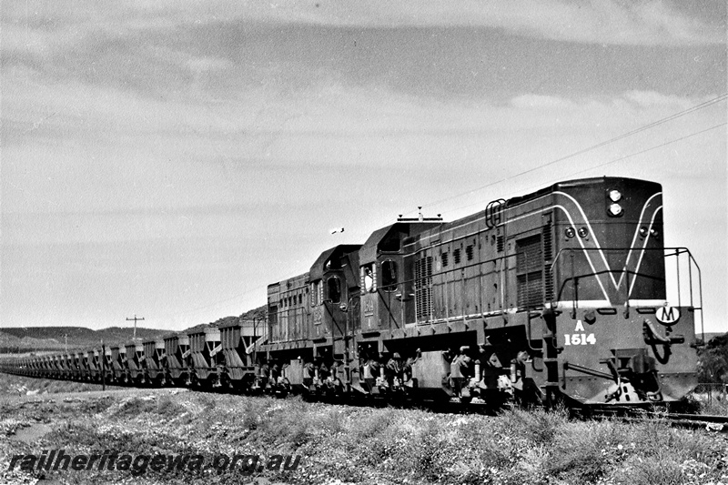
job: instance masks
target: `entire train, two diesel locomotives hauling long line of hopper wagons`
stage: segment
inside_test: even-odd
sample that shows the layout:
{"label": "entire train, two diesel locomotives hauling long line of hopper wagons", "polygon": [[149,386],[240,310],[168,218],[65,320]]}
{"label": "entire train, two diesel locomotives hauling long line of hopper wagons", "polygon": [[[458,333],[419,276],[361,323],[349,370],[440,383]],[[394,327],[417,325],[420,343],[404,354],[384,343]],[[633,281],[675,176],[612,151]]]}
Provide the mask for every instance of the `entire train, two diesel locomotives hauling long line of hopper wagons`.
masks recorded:
{"label": "entire train, two diesel locomotives hauling long line of hopper wagons", "polygon": [[689,250],[662,241],[659,184],[564,181],[329,248],[268,285],[265,322],[3,369],[348,399],[670,404],[697,385],[702,295]]}

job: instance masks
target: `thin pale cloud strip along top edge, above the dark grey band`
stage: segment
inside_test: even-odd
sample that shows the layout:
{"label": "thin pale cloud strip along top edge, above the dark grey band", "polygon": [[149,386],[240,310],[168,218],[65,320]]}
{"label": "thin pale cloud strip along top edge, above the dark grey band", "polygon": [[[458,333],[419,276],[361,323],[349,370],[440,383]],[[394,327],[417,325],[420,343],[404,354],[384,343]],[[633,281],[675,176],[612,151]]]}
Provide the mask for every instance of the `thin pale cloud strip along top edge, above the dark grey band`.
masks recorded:
{"label": "thin pale cloud strip along top edge, above the dark grey band", "polygon": [[[662,0],[351,0],[227,2],[86,1],[68,8],[46,3],[28,11],[10,3],[3,15],[4,48],[52,51],[92,33],[112,37],[183,33],[204,25],[319,25],[355,28],[470,27],[587,44],[702,45],[725,42],[721,1],[703,10]],[[5,6],[5,5],[4,5]]]}

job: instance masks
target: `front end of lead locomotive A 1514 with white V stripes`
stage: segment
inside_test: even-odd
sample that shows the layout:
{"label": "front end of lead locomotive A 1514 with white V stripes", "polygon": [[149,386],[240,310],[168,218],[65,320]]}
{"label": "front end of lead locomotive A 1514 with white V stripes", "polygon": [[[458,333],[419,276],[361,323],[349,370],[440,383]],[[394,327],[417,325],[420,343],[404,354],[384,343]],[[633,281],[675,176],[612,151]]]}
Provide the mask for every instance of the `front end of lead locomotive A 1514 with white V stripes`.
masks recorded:
{"label": "front end of lead locomotive A 1514 with white V stripes", "polygon": [[697,366],[699,268],[687,249],[664,248],[662,187],[602,177],[551,197],[546,387],[585,404],[679,399],[697,384],[684,369]]}

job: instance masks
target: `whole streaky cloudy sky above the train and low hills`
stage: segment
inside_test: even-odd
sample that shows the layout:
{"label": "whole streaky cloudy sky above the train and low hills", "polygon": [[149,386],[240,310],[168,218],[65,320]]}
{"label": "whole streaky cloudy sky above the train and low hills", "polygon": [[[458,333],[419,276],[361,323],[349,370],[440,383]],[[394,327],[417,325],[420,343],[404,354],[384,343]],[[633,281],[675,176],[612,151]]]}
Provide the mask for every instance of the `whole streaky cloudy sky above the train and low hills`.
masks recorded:
{"label": "whole streaky cloudy sky above the train and low hills", "polygon": [[0,21],[2,327],[240,315],[417,207],[607,175],[662,184],[665,244],[728,331],[724,1],[5,0]]}

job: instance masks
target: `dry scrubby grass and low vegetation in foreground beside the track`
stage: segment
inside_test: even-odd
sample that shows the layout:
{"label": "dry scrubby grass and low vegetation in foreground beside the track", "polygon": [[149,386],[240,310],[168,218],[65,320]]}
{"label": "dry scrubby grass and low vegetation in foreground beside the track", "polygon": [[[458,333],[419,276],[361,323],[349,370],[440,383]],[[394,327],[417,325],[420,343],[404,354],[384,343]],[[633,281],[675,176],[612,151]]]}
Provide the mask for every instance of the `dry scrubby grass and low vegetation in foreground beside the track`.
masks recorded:
{"label": "dry scrubby grass and low vegetation in foreground beside the track", "polygon": [[[0,482],[728,483],[726,435],[654,420],[573,421],[541,410],[458,416],[174,389],[107,394],[0,400]],[[39,422],[49,432],[28,442],[13,439]],[[298,454],[302,460],[293,472],[253,476],[5,471],[12,455],[51,448],[199,453],[206,460],[217,453]]]}

